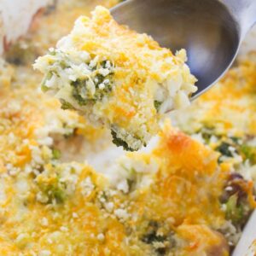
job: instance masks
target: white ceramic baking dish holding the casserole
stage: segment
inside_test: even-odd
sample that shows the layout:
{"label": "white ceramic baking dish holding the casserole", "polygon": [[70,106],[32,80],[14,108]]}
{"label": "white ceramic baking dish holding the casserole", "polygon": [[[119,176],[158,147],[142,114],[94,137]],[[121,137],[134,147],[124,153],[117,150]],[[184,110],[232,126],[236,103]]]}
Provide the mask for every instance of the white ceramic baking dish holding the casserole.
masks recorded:
{"label": "white ceramic baking dish holding the casserole", "polygon": [[[4,44],[14,42],[22,34],[26,33],[32,18],[38,12],[38,9],[44,7],[50,1],[51,0],[0,1],[0,55],[3,53]],[[256,26],[254,26],[253,30],[247,35],[241,46],[238,58],[246,55],[247,52],[251,50],[256,51]],[[151,142],[150,144],[152,145],[154,142]],[[150,145],[148,146],[149,147],[146,148],[146,150],[150,148]],[[101,166],[104,166],[104,168],[109,166],[109,159],[113,159],[120,154],[123,154],[122,150],[114,147],[108,148],[108,150],[102,152],[102,154],[91,155],[89,162],[92,166],[97,166],[96,169],[99,170],[102,169]],[[100,165],[99,162],[101,162]],[[253,241],[256,240],[255,227],[256,211],[253,212],[249,219],[233,256],[255,255],[256,252],[253,252],[252,248],[250,248]]]}

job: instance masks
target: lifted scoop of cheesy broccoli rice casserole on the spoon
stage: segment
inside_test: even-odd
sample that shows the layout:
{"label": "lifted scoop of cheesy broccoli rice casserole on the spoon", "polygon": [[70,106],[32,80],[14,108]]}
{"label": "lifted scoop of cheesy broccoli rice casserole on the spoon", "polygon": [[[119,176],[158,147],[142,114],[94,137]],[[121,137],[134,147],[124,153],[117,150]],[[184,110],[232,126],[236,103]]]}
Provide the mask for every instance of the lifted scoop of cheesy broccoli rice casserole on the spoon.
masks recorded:
{"label": "lifted scoop of cheesy broccoli rice casserole on the spoon", "polygon": [[42,90],[53,91],[62,108],[107,125],[113,143],[135,151],[159,130],[160,113],[189,105],[196,79],[186,60],[184,49],[172,55],[98,6],[34,67],[45,74]]}

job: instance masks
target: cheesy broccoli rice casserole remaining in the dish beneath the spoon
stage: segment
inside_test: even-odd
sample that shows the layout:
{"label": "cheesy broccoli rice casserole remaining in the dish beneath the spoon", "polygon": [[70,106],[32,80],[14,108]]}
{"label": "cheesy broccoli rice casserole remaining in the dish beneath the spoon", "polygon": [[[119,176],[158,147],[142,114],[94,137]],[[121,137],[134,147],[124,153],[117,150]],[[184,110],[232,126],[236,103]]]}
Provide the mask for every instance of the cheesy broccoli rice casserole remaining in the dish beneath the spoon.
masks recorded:
{"label": "cheesy broccoli rice casserole remaining in the dish beneath the spoon", "polygon": [[0,61],[0,255],[230,255],[253,212],[255,53],[137,152],[38,90],[38,56],[116,3],[50,5]]}

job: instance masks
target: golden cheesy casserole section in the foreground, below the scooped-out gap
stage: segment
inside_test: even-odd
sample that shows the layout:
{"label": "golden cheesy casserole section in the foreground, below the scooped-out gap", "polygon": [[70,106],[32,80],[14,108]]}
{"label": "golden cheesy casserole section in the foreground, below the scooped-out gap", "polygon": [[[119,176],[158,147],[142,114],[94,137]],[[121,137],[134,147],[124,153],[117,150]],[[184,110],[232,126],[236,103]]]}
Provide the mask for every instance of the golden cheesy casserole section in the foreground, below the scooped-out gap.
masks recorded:
{"label": "golden cheesy casserole section in the foreground, below the scooped-out gap", "polygon": [[[3,160],[0,253],[228,253],[217,231],[226,222],[218,197],[228,173],[218,154],[169,125],[152,153],[119,163],[130,180],[125,193],[86,164],[61,164],[51,148],[26,144],[24,162]],[[151,182],[143,183],[147,172]]]}

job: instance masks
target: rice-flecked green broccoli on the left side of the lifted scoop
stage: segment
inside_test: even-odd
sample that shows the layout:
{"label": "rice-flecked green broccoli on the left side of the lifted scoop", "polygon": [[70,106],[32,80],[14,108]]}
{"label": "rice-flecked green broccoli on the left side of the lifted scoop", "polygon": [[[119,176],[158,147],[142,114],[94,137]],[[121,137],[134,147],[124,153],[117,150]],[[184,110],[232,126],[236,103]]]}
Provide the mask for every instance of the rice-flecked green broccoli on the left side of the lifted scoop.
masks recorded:
{"label": "rice-flecked green broccoli on the left side of the lifted scoop", "polygon": [[[90,60],[73,60],[73,55],[63,52],[61,50],[49,50],[49,67],[47,68],[48,73],[44,76],[41,88],[42,90],[48,91],[53,90],[57,93],[59,90],[65,90],[67,86],[68,91],[66,93],[73,100],[69,102],[77,102],[79,106],[90,106],[98,101],[102,101],[105,96],[108,96],[113,89],[113,63],[111,61],[100,61],[90,65]],[[81,68],[78,75],[75,67]],[[66,81],[64,82],[61,78],[66,74]],[[52,79],[52,81],[49,81]],[[48,86],[48,83],[51,84]],[[71,86],[71,90],[70,87]],[[70,109],[73,108],[72,104],[64,102],[62,100],[62,108]]]}

